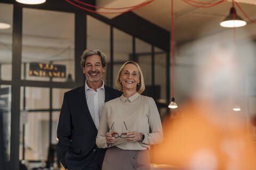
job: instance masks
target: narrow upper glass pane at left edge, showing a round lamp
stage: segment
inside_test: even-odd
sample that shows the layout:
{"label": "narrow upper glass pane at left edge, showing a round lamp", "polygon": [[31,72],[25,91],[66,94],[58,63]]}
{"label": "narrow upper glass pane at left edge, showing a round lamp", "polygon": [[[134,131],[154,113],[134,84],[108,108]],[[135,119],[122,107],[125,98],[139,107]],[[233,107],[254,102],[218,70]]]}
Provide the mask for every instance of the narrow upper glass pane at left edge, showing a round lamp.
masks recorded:
{"label": "narrow upper glass pane at left edge, showing a round lamp", "polygon": [[0,80],[12,80],[12,24],[13,5],[0,3]]}

